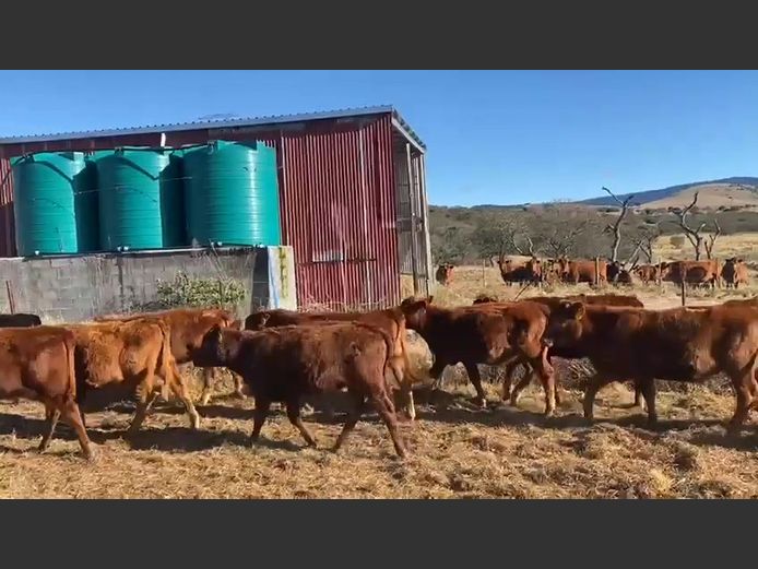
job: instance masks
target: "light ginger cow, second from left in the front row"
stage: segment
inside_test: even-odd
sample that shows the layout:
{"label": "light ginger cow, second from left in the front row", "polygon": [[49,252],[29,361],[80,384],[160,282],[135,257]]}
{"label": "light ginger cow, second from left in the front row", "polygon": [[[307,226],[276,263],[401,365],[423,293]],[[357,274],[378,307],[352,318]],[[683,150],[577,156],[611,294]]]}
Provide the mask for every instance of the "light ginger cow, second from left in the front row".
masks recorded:
{"label": "light ginger cow, second from left in the front row", "polygon": [[200,415],[192,404],[187,382],[176,367],[170,347],[171,334],[163,319],[67,324],[66,328],[73,332],[76,344],[80,402],[91,388],[111,383],[134,388],[137,412],[127,431],[132,435],[139,430],[159,390],[165,388],[185,404],[191,427],[200,427]]}

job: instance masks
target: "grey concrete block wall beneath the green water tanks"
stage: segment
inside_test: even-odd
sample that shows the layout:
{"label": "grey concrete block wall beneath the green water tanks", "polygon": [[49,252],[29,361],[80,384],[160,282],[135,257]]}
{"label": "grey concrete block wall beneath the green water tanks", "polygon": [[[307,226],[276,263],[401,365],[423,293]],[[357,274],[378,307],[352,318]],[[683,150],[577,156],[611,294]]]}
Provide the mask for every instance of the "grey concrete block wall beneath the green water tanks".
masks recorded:
{"label": "grey concrete block wall beneath the green water tanks", "polygon": [[292,247],[183,249],[0,259],[0,311],[76,322],[157,299],[158,281],[180,272],[240,281],[240,317],[256,308],[297,307]]}

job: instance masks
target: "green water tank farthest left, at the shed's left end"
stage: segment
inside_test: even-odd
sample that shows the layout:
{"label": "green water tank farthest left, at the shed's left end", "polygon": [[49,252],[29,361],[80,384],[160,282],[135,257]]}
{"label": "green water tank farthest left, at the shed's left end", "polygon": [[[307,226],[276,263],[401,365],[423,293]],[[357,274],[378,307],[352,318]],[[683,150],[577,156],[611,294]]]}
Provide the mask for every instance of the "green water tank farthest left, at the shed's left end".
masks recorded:
{"label": "green water tank farthest left, at the shed's left end", "polygon": [[20,256],[97,250],[95,177],[83,153],[22,156],[12,161],[12,171]]}

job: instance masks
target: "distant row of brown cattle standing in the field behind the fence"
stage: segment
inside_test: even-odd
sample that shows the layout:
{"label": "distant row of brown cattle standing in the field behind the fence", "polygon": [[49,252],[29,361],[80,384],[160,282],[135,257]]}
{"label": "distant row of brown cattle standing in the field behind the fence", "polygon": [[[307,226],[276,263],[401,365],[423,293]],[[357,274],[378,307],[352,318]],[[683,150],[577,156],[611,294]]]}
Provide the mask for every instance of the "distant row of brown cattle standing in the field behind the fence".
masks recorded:
{"label": "distant row of brown cattle standing in the field behind the fence", "polygon": [[[626,269],[618,261],[604,259],[585,260],[568,259],[538,259],[526,256],[505,256],[493,260],[500,270],[500,276],[506,284],[541,284],[550,282],[564,282],[568,284],[633,284],[635,281],[643,284],[673,282],[682,283],[683,280],[691,285],[710,285],[712,287],[722,284],[738,288],[748,284],[748,272],[745,261],[739,258],[730,258],[723,262],[716,259],[707,261],[672,261],[659,264],[642,264]],[[447,285],[452,278],[454,265],[440,264],[437,268],[437,282]]]}

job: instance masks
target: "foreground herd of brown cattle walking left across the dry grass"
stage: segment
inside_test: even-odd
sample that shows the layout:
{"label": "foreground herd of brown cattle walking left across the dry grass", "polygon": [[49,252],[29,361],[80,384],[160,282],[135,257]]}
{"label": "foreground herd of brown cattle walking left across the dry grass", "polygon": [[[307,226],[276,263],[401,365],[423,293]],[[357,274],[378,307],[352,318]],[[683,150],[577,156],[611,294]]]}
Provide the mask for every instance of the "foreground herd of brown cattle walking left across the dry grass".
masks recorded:
{"label": "foreground herd of brown cattle walking left across the dry grass", "polygon": [[[410,364],[408,329],[434,355],[428,378],[416,376]],[[203,368],[201,405],[212,394],[220,367],[232,371],[238,396],[254,398],[251,442],[276,402],[284,404],[306,442],[316,446],[300,418],[301,404],[315,394],[346,389],[352,407],[333,449],[344,443],[370,403],[396,453],[404,457],[395,405],[415,418],[414,384],[439,381],[447,366],[460,363],[476,401],[485,406],[477,365],[505,366],[504,400],[517,405],[521,391],[536,378],[549,416],[558,400],[553,357],[588,358],[594,367],[584,394],[588,418],[597,390],[612,381],[632,381],[636,404],[644,400],[649,420],[655,422],[656,379],[695,382],[723,372],[736,393],[730,429],[737,429],[758,402],[758,300],[649,310],[635,296],[611,294],[520,301],[479,297],[455,308],[427,297],[369,312],[276,309],[240,321],[221,309],[177,309],[62,325],[43,325],[34,315],[0,316],[0,396],[45,405],[40,451],[62,418],[75,430],[86,458],[93,457],[87,394],[109,386],[135,394],[137,410],[126,435],[140,428],[158,395],[169,394],[199,429],[187,376],[178,368],[185,364]],[[520,366],[524,377],[511,389]]]}

